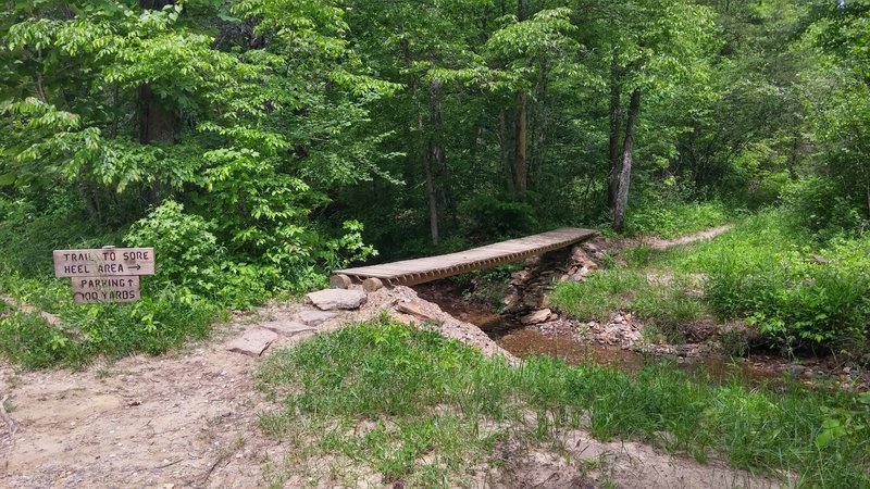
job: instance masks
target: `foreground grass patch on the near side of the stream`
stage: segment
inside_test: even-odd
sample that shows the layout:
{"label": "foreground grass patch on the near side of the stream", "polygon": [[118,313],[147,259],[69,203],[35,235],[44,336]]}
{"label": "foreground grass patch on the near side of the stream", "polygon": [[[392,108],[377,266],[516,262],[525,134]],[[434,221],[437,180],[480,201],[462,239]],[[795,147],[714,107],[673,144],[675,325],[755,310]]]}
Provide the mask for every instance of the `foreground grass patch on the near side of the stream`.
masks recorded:
{"label": "foreground grass patch on the near side of the stream", "polygon": [[[261,426],[299,449],[274,473],[276,486],[311,457],[335,461],[312,477],[358,466],[383,482],[462,484],[469,471],[504,463],[500,441],[546,443],[559,430],[585,428],[701,462],[794,473],[801,486],[870,487],[870,406],[861,403],[870,398],[845,392],[708,385],[667,365],[636,377],[549,358],[512,367],[386,319],[276,352],[258,381],[276,403]],[[852,428],[822,435],[837,423]]]}

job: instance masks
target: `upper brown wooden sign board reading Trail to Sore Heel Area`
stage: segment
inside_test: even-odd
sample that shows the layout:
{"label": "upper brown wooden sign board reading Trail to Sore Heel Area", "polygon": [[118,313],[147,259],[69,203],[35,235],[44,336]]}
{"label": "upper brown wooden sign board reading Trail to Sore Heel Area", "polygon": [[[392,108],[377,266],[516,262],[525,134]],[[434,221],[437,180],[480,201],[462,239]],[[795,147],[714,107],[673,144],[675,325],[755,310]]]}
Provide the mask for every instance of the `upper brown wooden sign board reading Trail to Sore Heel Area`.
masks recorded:
{"label": "upper brown wooden sign board reading Trail to Sore Heel Area", "polygon": [[54,250],[57,277],[128,277],[153,274],[153,248]]}

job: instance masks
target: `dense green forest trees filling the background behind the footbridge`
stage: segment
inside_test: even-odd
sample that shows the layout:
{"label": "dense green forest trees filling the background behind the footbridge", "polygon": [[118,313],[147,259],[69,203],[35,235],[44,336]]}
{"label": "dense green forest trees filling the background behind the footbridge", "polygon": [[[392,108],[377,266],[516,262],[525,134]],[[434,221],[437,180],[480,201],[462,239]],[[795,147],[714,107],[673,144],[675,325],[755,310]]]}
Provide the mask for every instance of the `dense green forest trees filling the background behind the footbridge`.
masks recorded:
{"label": "dense green forest trees filling the background behind the footbridge", "polygon": [[[869,10],[7,2],[0,271],[52,287],[51,249],[148,244],[154,311],[178,298],[247,306],[375,250],[557,225],[675,235],[778,204],[818,248],[855,254],[870,218]],[[743,287],[775,300],[721,294],[720,309],[829,342],[846,321],[833,311],[860,289],[829,300],[795,284],[840,272],[786,268]]]}

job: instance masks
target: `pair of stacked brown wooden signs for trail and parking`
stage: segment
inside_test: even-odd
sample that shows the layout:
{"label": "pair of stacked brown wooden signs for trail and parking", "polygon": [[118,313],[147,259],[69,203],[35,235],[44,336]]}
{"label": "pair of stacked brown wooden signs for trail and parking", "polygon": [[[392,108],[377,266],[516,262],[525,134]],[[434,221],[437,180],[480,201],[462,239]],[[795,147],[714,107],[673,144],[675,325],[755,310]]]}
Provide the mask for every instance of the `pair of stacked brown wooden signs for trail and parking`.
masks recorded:
{"label": "pair of stacked brown wooden signs for trail and parking", "polygon": [[73,300],[135,302],[141,299],[139,276],[154,274],[153,248],[104,247],[92,250],[54,250],[54,276],[70,277]]}

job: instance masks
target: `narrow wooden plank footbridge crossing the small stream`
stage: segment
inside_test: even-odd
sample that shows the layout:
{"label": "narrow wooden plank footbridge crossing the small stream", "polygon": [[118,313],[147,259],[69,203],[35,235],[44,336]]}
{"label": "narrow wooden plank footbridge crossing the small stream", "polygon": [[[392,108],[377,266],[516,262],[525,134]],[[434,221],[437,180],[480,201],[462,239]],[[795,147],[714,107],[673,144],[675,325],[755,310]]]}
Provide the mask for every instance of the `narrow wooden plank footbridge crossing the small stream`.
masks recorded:
{"label": "narrow wooden plank footbridge crossing the small stream", "polygon": [[597,234],[598,231],[592,229],[556,229],[459,253],[339,269],[334,272],[331,281],[333,287],[343,289],[349,287],[350,284],[362,283],[363,288],[368,291],[377,290],[385,285],[423,284],[473,269],[492,268],[504,263],[570,247]]}

